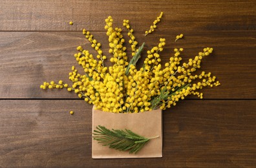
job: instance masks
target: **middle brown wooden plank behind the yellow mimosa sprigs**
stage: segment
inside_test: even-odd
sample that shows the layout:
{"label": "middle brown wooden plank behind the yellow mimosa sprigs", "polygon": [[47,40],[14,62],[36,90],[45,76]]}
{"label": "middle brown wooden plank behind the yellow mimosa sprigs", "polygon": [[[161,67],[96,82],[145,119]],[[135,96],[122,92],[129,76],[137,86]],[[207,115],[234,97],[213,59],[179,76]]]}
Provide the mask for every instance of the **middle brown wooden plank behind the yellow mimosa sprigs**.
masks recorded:
{"label": "middle brown wooden plank behind the yellow mimosa sprigs", "polygon": [[[163,62],[169,59],[174,47],[184,48],[185,61],[202,48],[213,47],[214,54],[203,60],[202,69],[212,72],[222,85],[206,89],[205,98],[256,98],[255,31],[183,32],[184,39],[175,43],[178,33],[158,31],[147,37],[141,32],[135,35],[140,44],[145,41],[147,49],[157,45],[160,37],[165,37],[167,45],[161,53]],[[107,53],[105,32],[92,34]],[[0,36],[0,98],[78,98],[66,90],[43,91],[39,85],[59,79],[69,83],[72,65],[82,72],[73,54],[78,45],[89,50],[91,47],[81,32],[1,32]]]}

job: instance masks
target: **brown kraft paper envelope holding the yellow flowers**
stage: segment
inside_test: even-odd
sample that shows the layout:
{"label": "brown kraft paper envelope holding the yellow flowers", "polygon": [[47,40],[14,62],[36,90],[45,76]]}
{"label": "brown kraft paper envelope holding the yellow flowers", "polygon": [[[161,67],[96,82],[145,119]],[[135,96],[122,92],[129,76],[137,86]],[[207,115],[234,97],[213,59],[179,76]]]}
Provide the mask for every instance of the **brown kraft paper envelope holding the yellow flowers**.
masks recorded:
{"label": "brown kraft paper envelope holding the yellow flowers", "polygon": [[92,138],[92,158],[161,158],[162,157],[162,110],[152,110],[139,113],[113,113],[92,109],[92,132],[96,126],[107,129],[130,129],[151,139],[136,154],[118,151],[103,146]]}

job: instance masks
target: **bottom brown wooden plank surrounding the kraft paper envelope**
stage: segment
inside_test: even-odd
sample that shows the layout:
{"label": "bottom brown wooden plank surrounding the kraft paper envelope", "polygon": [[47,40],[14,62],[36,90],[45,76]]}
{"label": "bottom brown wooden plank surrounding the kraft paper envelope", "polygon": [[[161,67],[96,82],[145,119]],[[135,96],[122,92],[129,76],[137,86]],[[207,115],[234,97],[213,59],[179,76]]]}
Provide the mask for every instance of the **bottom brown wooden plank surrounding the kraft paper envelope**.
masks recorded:
{"label": "bottom brown wooden plank surrounding the kraft paper envelope", "polygon": [[[92,160],[92,106],[0,100],[1,167],[253,167],[255,100],[186,100],[163,113],[163,158]],[[74,110],[74,115],[69,114]]]}

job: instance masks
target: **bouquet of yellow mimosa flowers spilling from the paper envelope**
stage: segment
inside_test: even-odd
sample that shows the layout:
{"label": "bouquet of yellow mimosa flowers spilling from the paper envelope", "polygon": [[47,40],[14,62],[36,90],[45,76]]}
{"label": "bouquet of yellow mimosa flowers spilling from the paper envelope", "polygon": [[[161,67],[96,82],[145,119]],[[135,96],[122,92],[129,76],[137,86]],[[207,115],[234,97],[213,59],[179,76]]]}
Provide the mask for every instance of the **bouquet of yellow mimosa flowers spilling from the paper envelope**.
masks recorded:
{"label": "bouquet of yellow mimosa flowers spilling from the paper envelope", "polygon": [[[158,19],[162,17],[162,13]],[[121,28],[114,28],[113,19],[109,16],[105,19],[105,30],[109,39],[109,54],[112,66],[105,67],[101,44],[92,34],[83,29],[85,38],[96,50],[96,58],[89,50],[77,47],[78,53],[74,58],[83,67],[84,74],[78,73],[73,66],[69,73],[72,85],[63,81],[44,82],[41,89],[63,89],[74,91],[79,98],[88,103],[93,103],[97,109],[106,112],[144,112],[153,109],[166,109],[175,106],[179,100],[184,100],[191,94],[202,98],[202,92],[198,90],[203,87],[220,85],[216,77],[211,73],[195,71],[200,68],[200,63],[205,56],[213,52],[213,48],[204,48],[193,59],[181,63],[180,53],[183,48],[175,48],[173,56],[163,66],[161,64],[160,52],[165,46],[165,39],[160,38],[156,47],[147,50],[147,58],[141,68],[136,68],[136,62],[141,57],[144,44],[136,48],[133,29],[128,20],[123,20],[123,26],[128,30],[129,43],[133,56],[128,61],[125,39]],[[156,22],[157,23],[157,22]],[[154,24],[156,24],[154,23]],[[182,35],[183,36],[183,35]]]}

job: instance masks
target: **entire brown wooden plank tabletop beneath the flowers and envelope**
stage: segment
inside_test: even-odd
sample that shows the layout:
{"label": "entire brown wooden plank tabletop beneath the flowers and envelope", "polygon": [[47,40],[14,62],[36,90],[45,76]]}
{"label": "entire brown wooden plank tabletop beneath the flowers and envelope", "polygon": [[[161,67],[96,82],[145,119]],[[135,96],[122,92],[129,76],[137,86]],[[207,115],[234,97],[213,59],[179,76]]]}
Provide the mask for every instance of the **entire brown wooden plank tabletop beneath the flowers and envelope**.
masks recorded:
{"label": "entire brown wooden plank tabletop beneath the flowers and envelope", "polygon": [[[0,0],[0,167],[255,167],[256,2]],[[156,16],[156,32],[144,31]],[[222,85],[163,113],[163,158],[92,160],[91,105],[66,90],[39,89],[68,81],[78,45],[90,30],[107,51],[104,19],[129,19],[140,43],[166,38],[186,60],[204,47],[202,68]],[[68,23],[72,20],[74,25]],[[175,43],[176,35],[184,39]],[[74,115],[69,111],[74,110]]]}

